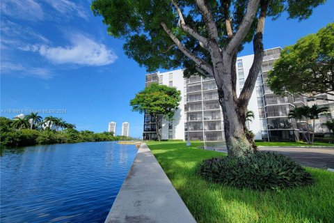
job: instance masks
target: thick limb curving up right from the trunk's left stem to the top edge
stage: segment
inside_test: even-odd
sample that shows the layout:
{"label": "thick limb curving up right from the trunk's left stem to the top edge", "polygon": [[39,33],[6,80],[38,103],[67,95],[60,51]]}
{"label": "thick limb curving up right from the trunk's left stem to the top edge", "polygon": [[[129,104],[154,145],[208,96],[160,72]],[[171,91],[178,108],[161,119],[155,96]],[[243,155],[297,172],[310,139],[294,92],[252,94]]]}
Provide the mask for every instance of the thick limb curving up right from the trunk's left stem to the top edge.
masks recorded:
{"label": "thick limb curving up right from the trunk's left stem to the top edge", "polygon": [[228,45],[226,46],[225,50],[229,54],[233,54],[233,52],[237,51],[239,45],[242,43],[242,40],[244,40],[244,38],[246,37],[250,29],[250,26],[254,21],[257,11],[257,6],[259,6],[259,2],[260,0],[248,1],[246,14],[244,15],[244,18],[241,21],[239,29],[230,40],[230,43],[228,43]]}

